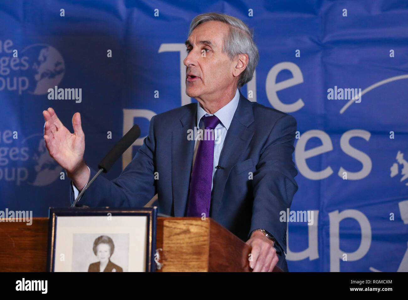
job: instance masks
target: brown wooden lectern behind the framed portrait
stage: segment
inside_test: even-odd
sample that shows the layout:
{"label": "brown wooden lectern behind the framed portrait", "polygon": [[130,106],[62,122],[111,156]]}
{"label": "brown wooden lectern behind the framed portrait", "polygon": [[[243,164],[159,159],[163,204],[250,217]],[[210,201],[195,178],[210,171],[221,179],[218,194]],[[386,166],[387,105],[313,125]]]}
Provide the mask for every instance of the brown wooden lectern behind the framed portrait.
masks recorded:
{"label": "brown wooden lectern behind the framed portrait", "polygon": [[[248,272],[249,247],[211,218],[157,218],[157,271]],[[0,223],[0,271],[44,272],[47,267],[48,218]],[[282,271],[275,267],[274,271]]]}

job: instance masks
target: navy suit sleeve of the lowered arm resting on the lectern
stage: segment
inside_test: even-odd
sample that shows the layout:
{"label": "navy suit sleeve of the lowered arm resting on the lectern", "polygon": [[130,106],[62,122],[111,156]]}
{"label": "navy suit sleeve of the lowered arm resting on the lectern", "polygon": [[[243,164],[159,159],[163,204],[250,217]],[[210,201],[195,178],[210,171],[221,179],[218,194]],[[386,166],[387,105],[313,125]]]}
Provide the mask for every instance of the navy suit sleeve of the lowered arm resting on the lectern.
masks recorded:
{"label": "navy suit sleeve of the lowered arm resting on the lectern", "polygon": [[253,212],[250,233],[262,228],[270,232],[286,253],[287,223],[280,222],[280,212],[290,208],[297,191],[297,170],[292,160],[296,120],[284,115],[275,122],[261,151],[253,174]]}

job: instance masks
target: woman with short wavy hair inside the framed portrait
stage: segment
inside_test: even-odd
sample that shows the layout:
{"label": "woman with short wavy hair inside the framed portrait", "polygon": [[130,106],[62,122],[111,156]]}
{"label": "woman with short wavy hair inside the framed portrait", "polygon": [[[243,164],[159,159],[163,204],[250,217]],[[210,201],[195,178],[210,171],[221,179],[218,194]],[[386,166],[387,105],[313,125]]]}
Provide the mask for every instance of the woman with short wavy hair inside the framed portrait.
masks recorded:
{"label": "woman with short wavy hair inside the framed portrait", "polygon": [[123,272],[117,264],[111,262],[110,258],[115,250],[113,240],[109,236],[99,236],[93,242],[93,253],[99,262],[89,265],[88,272]]}

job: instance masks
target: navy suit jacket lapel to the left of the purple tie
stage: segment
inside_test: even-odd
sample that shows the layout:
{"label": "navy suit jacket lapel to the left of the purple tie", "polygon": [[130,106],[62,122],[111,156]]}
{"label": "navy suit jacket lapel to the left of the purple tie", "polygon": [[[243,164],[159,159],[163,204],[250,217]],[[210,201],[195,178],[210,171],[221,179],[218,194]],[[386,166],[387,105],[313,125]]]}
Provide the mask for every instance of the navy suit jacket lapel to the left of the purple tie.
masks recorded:
{"label": "navy suit jacket lapel to the left of the purple tie", "polygon": [[[194,109],[195,108],[195,109]],[[197,104],[192,105],[171,136],[171,186],[173,189],[174,216],[184,217],[187,204],[188,185],[194,155],[194,139],[187,140],[188,129],[197,126]]]}

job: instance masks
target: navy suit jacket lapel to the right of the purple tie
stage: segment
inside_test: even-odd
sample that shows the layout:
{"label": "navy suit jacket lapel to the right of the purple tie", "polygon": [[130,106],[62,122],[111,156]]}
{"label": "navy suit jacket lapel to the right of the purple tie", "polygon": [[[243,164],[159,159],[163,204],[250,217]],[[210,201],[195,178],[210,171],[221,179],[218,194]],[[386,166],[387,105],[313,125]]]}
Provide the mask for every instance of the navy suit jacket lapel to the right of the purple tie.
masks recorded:
{"label": "navy suit jacket lapel to the right of the purple tie", "polygon": [[232,167],[239,162],[239,157],[247,149],[254,135],[254,127],[250,127],[254,120],[251,102],[239,92],[238,106],[227,131],[218,162],[218,165],[224,167],[224,169],[217,169],[213,178],[211,199],[211,216],[213,218],[217,216],[220,209],[229,173]]}

